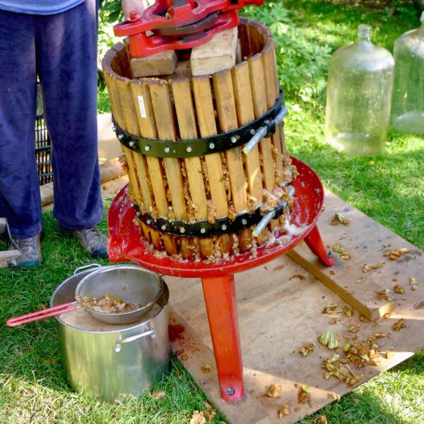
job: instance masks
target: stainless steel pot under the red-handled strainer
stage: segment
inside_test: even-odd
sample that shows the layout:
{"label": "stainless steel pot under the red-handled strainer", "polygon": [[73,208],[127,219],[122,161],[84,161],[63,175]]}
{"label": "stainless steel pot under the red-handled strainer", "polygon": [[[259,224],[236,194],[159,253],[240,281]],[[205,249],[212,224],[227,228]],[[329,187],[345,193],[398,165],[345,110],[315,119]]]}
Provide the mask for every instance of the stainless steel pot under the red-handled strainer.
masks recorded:
{"label": "stainless steel pot under the red-handled strainer", "polygon": [[[73,300],[76,285],[92,271],[85,269],[61,283],[50,305]],[[97,330],[65,322],[63,318],[71,312],[56,317],[61,355],[71,387],[109,402],[139,397],[151,389],[163,377],[169,360],[168,300],[169,290],[163,283],[158,302],[141,321],[101,324],[102,328]]]}

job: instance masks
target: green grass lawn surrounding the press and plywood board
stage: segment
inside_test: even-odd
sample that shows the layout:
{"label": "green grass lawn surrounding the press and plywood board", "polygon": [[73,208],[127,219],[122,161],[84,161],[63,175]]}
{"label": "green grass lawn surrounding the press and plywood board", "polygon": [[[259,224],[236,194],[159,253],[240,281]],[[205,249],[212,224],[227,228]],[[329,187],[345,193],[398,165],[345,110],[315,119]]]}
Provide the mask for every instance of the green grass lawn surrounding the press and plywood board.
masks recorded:
{"label": "green grass lawn surrounding the press and plywood board", "polygon": [[[285,125],[290,152],[314,167],[327,188],[423,249],[424,139],[391,130],[384,153],[370,158],[336,153],[323,142],[326,68],[332,52],[355,39],[359,23],[371,23],[373,40],[389,50],[401,33],[419,23],[413,2],[402,2],[396,10],[384,6],[395,1],[380,1],[377,8],[350,3],[267,1],[245,14],[263,20],[276,36],[278,70],[290,111]],[[104,25],[103,45],[108,40]],[[99,107],[108,108],[102,88]],[[51,213],[44,220],[45,263],[33,270],[0,270],[1,322],[44,307],[73,269],[92,262],[74,240],[59,235]],[[105,220],[102,228],[106,230]],[[148,393],[129,404],[110,405],[75,394],[66,384],[53,319],[16,329],[1,326],[0,340],[0,423],[173,424],[204,409],[206,397],[175,358],[170,373],[155,387],[165,390],[164,399],[155,401]],[[325,414],[331,424],[420,424],[423,394],[420,351],[302,423],[317,423]],[[218,414],[213,422],[221,421],[225,418]]]}

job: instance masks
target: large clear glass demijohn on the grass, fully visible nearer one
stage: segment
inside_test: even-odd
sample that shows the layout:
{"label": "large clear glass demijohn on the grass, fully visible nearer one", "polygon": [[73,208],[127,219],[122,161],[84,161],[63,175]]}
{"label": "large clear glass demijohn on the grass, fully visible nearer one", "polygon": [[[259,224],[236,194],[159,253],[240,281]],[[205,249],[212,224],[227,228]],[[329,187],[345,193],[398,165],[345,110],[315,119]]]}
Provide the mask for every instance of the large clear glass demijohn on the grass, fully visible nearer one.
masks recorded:
{"label": "large clear glass demijohn on the grass, fully visible nearer one", "polygon": [[325,138],[339,151],[375,155],[384,149],[390,119],[394,59],[359,25],[358,41],[330,59]]}

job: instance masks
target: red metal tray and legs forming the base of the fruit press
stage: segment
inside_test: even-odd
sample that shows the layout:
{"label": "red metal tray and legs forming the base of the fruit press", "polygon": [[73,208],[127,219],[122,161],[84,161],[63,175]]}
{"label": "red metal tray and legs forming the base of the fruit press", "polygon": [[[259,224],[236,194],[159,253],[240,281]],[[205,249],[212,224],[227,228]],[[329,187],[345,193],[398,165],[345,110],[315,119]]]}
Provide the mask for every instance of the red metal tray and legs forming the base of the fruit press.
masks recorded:
{"label": "red metal tray and legs forming the base of the fruit press", "polygon": [[[302,228],[300,234],[288,237],[279,244],[262,246],[256,254],[248,252],[218,264],[205,261],[178,261],[158,257],[147,242],[140,241],[140,232],[134,223],[135,213],[127,195],[128,187],[117,194],[108,215],[110,261],[134,261],[146,269],[168,276],[201,278],[208,313],[209,328],[215,354],[220,394],[225,401],[242,399],[243,365],[240,334],[237,321],[234,274],[264,264],[284,254],[305,240],[307,246],[326,266],[334,259],[326,254],[319,235],[317,219],[324,202],[324,189],[317,174],[305,163],[292,158],[299,175],[293,182],[295,199],[290,222]],[[282,233],[280,237],[284,237]],[[284,239],[281,239],[284,240]]]}

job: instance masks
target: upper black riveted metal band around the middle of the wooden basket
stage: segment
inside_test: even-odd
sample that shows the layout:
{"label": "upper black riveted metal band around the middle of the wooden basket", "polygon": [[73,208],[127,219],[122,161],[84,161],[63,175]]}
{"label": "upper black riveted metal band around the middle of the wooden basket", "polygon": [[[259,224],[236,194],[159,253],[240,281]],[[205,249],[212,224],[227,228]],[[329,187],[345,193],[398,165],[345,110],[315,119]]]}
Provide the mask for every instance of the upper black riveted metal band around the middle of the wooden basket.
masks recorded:
{"label": "upper black riveted metal band around the middle of the wooden basket", "polygon": [[267,126],[266,136],[270,136],[276,131],[273,119],[283,109],[285,109],[284,94],[281,92],[275,105],[261,117],[250,122],[250,124],[216,136],[205,137],[204,139],[179,140],[178,142],[137,137],[120,128],[113,116],[112,122],[118,140],[133,151],[147,156],[154,156],[155,158],[193,158],[242,146],[252,139],[252,136],[256,134],[257,129],[261,126]]}

